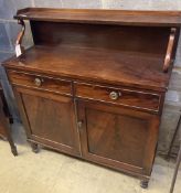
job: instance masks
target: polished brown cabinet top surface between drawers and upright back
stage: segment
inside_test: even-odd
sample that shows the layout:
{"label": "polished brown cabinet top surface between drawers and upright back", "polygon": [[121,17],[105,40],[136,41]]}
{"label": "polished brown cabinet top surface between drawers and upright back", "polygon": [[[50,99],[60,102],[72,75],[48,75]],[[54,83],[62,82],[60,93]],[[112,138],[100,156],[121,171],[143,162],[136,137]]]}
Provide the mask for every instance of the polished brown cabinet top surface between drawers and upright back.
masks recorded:
{"label": "polished brown cabinet top surface between drawers and upright back", "polygon": [[[140,60],[141,57],[141,60]],[[143,53],[110,52],[66,45],[33,46],[19,58],[4,62],[8,68],[52,76],[166,90],[171,71],[162,73],[162,60]]]}

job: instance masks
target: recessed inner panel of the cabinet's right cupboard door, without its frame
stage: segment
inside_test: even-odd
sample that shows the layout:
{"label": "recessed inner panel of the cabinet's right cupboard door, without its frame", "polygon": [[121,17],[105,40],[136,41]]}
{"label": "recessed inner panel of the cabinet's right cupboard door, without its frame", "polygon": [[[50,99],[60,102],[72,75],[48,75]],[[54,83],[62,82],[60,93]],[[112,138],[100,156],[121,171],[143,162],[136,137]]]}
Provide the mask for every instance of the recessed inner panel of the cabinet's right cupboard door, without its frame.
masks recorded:
{"label": "recessed inner panel of the cabinet's right cupboard door, without its frame", "polygon": [[96,109],[86,109],[86,120],[91,153],[142,167],[146,120]]}

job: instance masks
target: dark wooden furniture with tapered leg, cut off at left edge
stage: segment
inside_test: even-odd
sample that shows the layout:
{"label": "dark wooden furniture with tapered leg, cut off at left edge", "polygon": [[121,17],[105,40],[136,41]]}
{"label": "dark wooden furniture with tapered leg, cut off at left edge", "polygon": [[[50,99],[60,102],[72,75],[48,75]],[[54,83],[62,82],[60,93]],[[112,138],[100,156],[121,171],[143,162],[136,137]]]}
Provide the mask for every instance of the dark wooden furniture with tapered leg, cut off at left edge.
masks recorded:
{"label": "dark wooden furniture with tapered leg, cut off at left edge", "polygon": [[13,143],[11,131],[10,131],[10,124],[12,122],[12,118],[9,112],[9,108],[7,105],[7,100],[3,95],[3,90],[0,84],[0,138],[8,139],[11,152],[13,156],[18,156],[17,147]]}

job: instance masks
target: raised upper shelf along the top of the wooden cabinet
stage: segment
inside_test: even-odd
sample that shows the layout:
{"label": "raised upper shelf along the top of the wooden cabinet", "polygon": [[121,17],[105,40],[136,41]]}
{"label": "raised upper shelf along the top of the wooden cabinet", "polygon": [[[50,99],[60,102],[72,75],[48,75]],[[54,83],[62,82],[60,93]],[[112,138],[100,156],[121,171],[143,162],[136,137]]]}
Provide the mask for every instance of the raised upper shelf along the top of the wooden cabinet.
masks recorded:
{"label": "raised upper shelf along the top of the wooden cabinet", "polygon": [[14,19],[72,23],[180,26],[181,11],[25,8],[19,10]]}

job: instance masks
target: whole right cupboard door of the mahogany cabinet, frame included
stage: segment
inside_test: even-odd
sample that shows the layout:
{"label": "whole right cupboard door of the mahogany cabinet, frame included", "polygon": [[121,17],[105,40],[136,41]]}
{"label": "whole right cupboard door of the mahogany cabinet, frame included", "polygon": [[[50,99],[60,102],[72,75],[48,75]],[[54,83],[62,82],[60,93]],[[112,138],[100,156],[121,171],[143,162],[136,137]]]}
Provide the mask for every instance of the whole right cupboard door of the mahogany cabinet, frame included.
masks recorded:
{"label": "whole right cupboard door of the mahogany cabinet, frame included", "polygon": [[85,159],[130,174],[150,174],[159,117],[78,101],[78,126]]}

